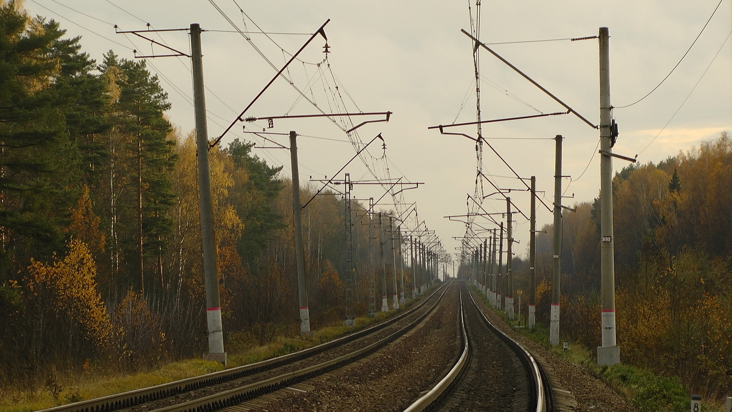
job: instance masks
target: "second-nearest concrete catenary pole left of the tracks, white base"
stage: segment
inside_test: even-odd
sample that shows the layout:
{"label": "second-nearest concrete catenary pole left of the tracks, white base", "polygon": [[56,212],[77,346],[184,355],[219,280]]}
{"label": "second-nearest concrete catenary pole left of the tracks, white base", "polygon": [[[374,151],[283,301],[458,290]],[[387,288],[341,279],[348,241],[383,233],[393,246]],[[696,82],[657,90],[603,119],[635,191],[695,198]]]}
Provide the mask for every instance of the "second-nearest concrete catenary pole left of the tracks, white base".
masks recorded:
{"label": "second-nearest concrete catenary pole left of the tracks, white base", "polygon": [[297,297],[300,307],[300,332],[310,334],[310,308],[307,307],[305,284],[305,251],[302,248],[302,206],[300,205],[300,174],[297,163],[297,133],[290,132],[290,161],[292,167],[292,223],[295,228],[295,263],[297,266]]}

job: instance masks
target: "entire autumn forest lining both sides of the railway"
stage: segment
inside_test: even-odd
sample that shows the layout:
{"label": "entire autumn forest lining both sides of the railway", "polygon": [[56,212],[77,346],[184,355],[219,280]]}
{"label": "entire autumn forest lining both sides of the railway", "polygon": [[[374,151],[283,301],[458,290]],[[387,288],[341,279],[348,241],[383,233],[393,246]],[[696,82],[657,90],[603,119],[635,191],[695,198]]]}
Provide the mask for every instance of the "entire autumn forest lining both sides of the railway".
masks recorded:
{"label": "entire autumn forest lining both sides of the railway", "polygon": [[[206,351],[195,136],[166,118],[167,94],[145,61],[110,50],[97,62],[65,33],[0,3],[0,388]],[[299,320],[291,180],[252,149],[235,140],[209,155],[226,339],[262,343],[298,333]],[[705,397],[732,392],[730,187],[726,132],[613,180],[621,359],[679,376]],[[561,334],[595,348],[600,205],[575,207],[561,226]],[[345,211],[343,196],[328,191],[303,210],[314,328],[343,321]],[[370,225],[359,203],[351,220],[356,315],[367,312],[369,280],[396,270],[375,264],[380,243],[387,255],[407,253],[386,261],[403,258],[411,296],[425,278],[408,236],[392,219]],[[553,230],[537,236],[545,325]],[[528,289],[526,258],[513,271],[516,288]],[[393,292],[391,282],[374,286],[376,296]]]}

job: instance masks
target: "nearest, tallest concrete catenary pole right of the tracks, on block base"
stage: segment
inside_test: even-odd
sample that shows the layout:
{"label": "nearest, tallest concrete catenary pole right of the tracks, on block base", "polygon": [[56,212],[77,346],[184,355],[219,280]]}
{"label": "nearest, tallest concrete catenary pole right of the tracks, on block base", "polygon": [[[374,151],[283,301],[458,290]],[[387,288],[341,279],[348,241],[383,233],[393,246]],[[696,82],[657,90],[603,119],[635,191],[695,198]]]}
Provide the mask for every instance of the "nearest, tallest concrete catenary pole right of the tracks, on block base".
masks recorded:
{"label": "nearest, tallest concrete catenary pole right of the tracks, on block base", "polygon": [[602,346],[597,348],[597,364],[620,363],[615,340],[615,252],[613,245],[613,158],[610,105],[610,34],[600,27],[600,288]]}

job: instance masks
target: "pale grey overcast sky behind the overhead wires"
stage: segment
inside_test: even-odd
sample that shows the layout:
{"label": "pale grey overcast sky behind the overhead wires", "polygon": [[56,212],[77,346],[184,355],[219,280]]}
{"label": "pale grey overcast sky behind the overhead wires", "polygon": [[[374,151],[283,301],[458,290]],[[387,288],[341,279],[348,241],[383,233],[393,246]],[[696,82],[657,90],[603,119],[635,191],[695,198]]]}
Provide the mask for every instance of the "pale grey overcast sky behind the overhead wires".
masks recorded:
{"label": "pale grey overcast sky behind the overhead wires", "polygon": [[[527,41],[596,36],[601,26],[608,27],[611,101],[616,107],[613,116],[620,131],[613,151],[630,157],[638,154],[642,163],[657,163],[717,138],[722,131],[732,131],[730,0],[722,0],[694,47],[654,93],[635,105],[619,108],[641,99],[668,75],[718,3],[719,0],[483,1],[479,38],[485,43],[508,43],[490,47],[597,124],[597,40]],[[183,29],[190,23],[200,23],[208,31],[203,33],[202,45],[212,138],[236,119],[285,64],[289,53],[298,50],[308,34],[331,19],[325,26],[331,52],[327,61],[322,53],[325,40],[316,37],[285,72],[299,91],[282,78],[277,79],[245,116],[313,114],[320,113],[318,108],[325,113],[392,111],[388,123],[365,124],[357,130],[358,136],[352,137],[368,142],[381,133],[386,141],[386,161],[377,141],[369,147],[365,162],[356,159],[345,172],[350,173],[352,180],[366,180],[374,179],[374,175],[385,177],[388,167],[392,178],[404,176],[408,181],[424,182],[416,190],[402,192],[402,204],[397,209],[405,210],[406,205],[416,201],[419,220],[425,220],[427,227],[436,231],[445,249],[455,252],[459,245],[452,236],[462,236],[465,225],[444,216],[466,214],[467,195],[475,192],[475,146],[468,138],[441,135],[427,127],[476,119],[472,45],[460,32],[471,31],[468,7],[475,16],[474,0],[26,0],[25,7],[31,14],[59,20],[68,34],[81,35],[83,50],[97,61],[110,49],[126,59],[134,58],[132,49],[144,54],[168,54],[168,50],[151,48],[150,42],[131,34],[115,34],[114,24],[120,30],[142,30],[146,23],[152,29]],[[254,23],[272,34],[266,37],[254,33],[259,30]],[[241,34],[228,32],[235,29],[253,32],[248,35],[251,44]],[[185,31],[159,33],[154,39],[189,53]],[[171,121],[182,133],[190,132],[193,92],[189,59],[148,61],[149,69],[160,76],[168,91],[173,105],[168,113]],[[479,53],[479,66],[482,119],[563,111],[489,53]],[[375,119],[381,117],[354,117],[352,121],[358,124]],[[243,125],[237,124],[225,135],[223,143],[237,137],[261,142],[242,132]],[[274,126],[267,132],[295,130],[302,135],[298,146],[303,183],[310,176],[332,177],[355,154],[354,146],[344,143],[348,136],[343,129],[327,119],[275,120]],[[267,123],[255,121],[246,127],[261,131]],[[477,135],[475,126],[451,127],[449,131]],[[537,176],[537,190],[546,192],[545,203],[549,206],[554,168],[554,142],[549,139],[563,135],[562,174],[573,179],[564,179],[563,186],[567,195],[575,196],[564,199],[564,203],[592,201],[598,195],[600,162],[594,153],[599,132],[577,117],[484,124],[482,135],[520,176]],[[288,146],[286,135],[269,138]],[[283,175],[290,175],[287,151],[258,149],[256,153],[272,165],[284,165]],[[613,162],[616,171],[626,165],[622,160]],[[488,147],[484,148],[483,170],[488,175],[512,176]],[[343,173],[338,178],[343,179]],[[492,181],[501,189],[521,187],[517,179],[493,177]],[[494,192],[493,187],[485,181],[483,193],[490,192]],[[367,185],[356,185],[353,190],[355,198],[378,198],[382,193],[380,188]],[[511,196],[529,215],[529,195],[513,192]],[[486,199],[483,207],[491,212],[504,211],[505,201]],[[410,215],[408,226],[414,227],[414,217]],[[540,204],[537,220],[539,228],[552,220],[550,212]],[[476,222],[488,225],[480,218]],[[529,223],[519,215],[515,237],[521,242],[517,249],[520,255],[526,252],[528,235]]]}

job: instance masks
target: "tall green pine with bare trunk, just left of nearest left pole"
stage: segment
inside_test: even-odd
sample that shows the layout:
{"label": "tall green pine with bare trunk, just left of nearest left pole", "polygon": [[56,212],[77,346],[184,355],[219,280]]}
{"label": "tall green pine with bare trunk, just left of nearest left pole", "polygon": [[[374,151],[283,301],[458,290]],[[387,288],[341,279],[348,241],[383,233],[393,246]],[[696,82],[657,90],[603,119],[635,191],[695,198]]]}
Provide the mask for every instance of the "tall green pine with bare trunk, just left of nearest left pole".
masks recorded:
{"label": "tall green pine with bare trunk, just left of nearest left pole", "polygon": [[[118,59],[109,52],[100,69],[119,87],[113,94],[115,119],[110,138],[111,198],[117,202],[112,219],[119,231],[116,229],[111,241],[127,246],[123,246],[127,264],[135,266],[130,268],[130,274],[136,274],[138,291],[144,291],[146,261],[155,261],[156,278],[162,280],[165,236],[172,228],[167,211],[174,201],[168,177],[175,162],[174,142],[168,139],[172,128],[163,116],[170,103],[157,76],[150,75],[144,61]],[[125,227],[122,222],[136,225]],[[115,243],[116,236],[124,240]],[[134,248],[130,247],[132,244]]]}

